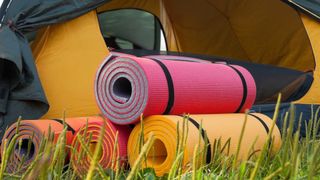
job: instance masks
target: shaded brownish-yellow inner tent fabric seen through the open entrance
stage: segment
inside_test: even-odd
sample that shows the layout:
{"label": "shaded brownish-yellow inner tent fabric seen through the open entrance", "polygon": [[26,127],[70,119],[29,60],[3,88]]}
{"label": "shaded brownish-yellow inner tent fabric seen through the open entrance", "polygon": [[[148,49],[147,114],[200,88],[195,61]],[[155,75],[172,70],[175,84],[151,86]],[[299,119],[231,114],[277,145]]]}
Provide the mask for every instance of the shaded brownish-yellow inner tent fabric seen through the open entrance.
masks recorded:
{"label": "shaded brownish-yellow inner tent fabric seen through the open entrance", "polygon": [[315,70],[314,52],[300,14],[279,0],[117,0],[99,7],[98,13],[124,8],[156,16],[164,27],[169,51],[229,57],[303,72]]}

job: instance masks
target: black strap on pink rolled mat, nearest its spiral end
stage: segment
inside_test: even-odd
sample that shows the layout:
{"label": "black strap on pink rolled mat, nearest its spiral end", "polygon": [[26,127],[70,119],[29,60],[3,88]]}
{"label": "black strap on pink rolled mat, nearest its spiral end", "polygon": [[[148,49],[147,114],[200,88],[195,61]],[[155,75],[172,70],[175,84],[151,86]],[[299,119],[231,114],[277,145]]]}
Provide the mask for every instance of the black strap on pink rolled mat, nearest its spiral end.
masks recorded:
{"label": "black strap on pink rolled mat, nearest its spiral end", "polygon": [[158,63],[160,65],[160,67],[162,68],[162,70],[166,76],[167,83],[168,83],[169,97],[168,97],[167,107],[166,107],[165,111],[163,112],[163,114],[170,114],[171,109],[173,107],[173,103],[174,103],[174,86],[173,86],[171,74],[170,74],[167,66],[165,64],[163,64],[161,61],[159,61],[157,59],[151,59],[151,60],[155,61],[156,63]]}

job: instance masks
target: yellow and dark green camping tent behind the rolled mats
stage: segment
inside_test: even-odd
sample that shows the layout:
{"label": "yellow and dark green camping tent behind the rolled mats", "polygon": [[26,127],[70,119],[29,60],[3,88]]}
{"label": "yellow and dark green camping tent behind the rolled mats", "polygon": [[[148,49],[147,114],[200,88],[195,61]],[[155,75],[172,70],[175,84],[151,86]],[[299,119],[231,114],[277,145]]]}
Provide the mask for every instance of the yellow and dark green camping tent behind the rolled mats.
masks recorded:
{"label": "yellow and dark green camping tent behind the rolled mats", "polygon": [[[139,42],[147,39],[143,36],[147,34],[139,32],[157,28],[165,34],[168,54],[188,53],[247,67],[258,86],[256,104],[272,104],[281,92],[284,101],[310,111],[311,104],[320,104],[319,4],[317,0],[5,1],[8,8],[2,6],[0,11],[5,14],[0,29],[3,126],[19,115],[98,114],[95,71],[109,53],[107,46],[114,44],[110,39],[132,42],[133,54],[141,53],[135,47],[142,54],[152,54],[150,49],[158,46]],[[157,23],[154,27],[130,24],[137,22],[134,20],[119,23],[125,14],[131,18],[134,14],[110,14],[128,9],[148,12]],[[126,33],[120,33],[122,29]],[[106,37],[104,30],[113,33]],[[26,38],[35,31],[32,57]]]}

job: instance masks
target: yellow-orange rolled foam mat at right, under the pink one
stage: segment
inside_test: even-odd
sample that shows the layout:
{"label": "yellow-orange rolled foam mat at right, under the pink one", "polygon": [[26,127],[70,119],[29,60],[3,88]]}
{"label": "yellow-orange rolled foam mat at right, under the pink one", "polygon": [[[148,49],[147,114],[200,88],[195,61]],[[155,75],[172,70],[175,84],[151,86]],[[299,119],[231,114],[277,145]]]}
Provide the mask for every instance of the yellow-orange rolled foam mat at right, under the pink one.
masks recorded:
{"label": "yellow-orange rolled foam mat at right, under the pink one", "polygon": [[[223,146],[230,140],[229,148],[224,149],[222,153],[225,155],[235,155],[245,116],[245,114],[190,115],[187,122],[187,140],[183,150],[183,166],[186,168],[190,165],[195,147],[197,145],[199,145],[199,148],[204,147],[205,142],[207,142],[207,150],[205,151],[205,160],[202,163],[211,162],[214,143],[218,141]],[[180,124],[179,135],[181,135],[183,123],[183,117],[181,116],[155,115],[147,117],[143,121],[143,137],[147,138],[150,133],[154,133],[156,138],[153,147],[151,147],[147,155],[146,164],[148,167],[154,168],[158,176],[169,172],[177,156],[178,122]],[[272,120],[263,114],[253,113],[247,116],[238,160],[247,159],[250,153],[259,153],[266,143],[271,126]],[[139,141],[141,130],[141,126],[137,125],[129,137],[128,158],[130,165],[133,165],[139,154],[137,142]],[[275,153],[281,146],[281,135],[276,126],[272,131],[272,137],[274,141],[272,152]]]}

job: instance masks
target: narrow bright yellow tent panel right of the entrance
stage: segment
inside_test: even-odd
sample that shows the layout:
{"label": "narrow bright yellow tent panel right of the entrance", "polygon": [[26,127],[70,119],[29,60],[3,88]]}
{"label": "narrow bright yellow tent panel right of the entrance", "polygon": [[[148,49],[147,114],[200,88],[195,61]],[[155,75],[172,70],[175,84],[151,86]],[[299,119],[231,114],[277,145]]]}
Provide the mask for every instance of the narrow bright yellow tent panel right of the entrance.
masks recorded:
{"label": "narrow bright yellow tent panel right of the entrance", "polygon": [[320,23],[303,14],[301,18],[310,38],[317,66],[310,90],[298,103],[320,104]]}

